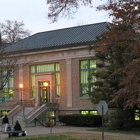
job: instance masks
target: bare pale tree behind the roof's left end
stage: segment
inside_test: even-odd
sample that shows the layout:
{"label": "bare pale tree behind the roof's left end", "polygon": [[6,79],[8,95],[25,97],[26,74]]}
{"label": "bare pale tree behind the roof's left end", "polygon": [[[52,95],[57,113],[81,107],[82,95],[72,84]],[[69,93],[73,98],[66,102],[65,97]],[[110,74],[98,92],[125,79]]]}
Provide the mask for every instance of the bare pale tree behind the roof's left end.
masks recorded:
{"label": "bare pale tree behind the roof's left end", "polygon": [[18,21],[6,20],[5,23],[0,23],[0,31],[3,36],[3,43],[15,43],[25,37],[28,37],[31,31],[23,28],[24,23]]}

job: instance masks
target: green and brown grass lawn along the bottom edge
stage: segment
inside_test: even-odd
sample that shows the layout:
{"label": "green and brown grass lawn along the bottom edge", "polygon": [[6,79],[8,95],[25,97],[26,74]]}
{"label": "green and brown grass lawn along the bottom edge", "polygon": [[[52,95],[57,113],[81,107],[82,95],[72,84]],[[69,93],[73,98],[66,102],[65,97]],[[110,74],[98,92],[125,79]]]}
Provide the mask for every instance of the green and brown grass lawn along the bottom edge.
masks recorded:
{"label": "green and brown grass lawn along the bottom edge", "polygon": [[[127,135],[126,135],[127,136]],[[132,137],[116,135],[115,133],[104,135],[104,140],[136,140]],[[5,139],[8,140],[9,138]],[[4,139],[3,139],[4,140]],[[102,134],[94,133],[63,133],[51,135],[38,135],[10,138],[10,140],[102,140]]]}

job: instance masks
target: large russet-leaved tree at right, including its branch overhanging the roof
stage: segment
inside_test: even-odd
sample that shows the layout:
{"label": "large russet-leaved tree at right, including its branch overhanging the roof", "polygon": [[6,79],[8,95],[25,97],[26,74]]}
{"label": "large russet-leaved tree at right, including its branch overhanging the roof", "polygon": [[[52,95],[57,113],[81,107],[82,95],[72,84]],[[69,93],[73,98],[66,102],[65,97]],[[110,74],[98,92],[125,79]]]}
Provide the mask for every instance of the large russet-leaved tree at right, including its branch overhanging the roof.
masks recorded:
{"label": "large russet-leaved tree at right, including its branch overhanging the roof", "polygon": [[[50,4],[48,16],[55,22],[60,13],[64,17],[71,16],[74,9],[77,10],[81,4],[91,5],[92,0],[47,2]],[[101,60],[102,66],[97,64],[98,67],[105,66],[104,69],[107,70],[93,73],[93,76],[105,81],[96,82],[102,88],[97,88],[96,85],[93,92],[99,90],[97,93],[100,94],[105,91],[101,98],[109,97],[110,103],[124,109],[140,107],[140,1],[108,0],[107,4],[98,6],[97,10],[108,11],[114,26],[108,26],[108,31],[91,45],[97,51],[97,60],[101,57],[104,59]],[[109,66],[106,67],[105,64]],[[95,101],[94,96],[92,100]]]}

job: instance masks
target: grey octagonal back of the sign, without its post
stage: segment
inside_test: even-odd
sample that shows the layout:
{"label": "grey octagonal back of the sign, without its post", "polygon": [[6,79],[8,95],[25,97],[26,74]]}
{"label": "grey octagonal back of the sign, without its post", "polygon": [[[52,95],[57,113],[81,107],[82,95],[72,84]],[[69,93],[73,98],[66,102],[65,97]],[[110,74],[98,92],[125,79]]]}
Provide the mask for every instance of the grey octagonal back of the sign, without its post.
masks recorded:
{"label": "grey octagonal back of the sign, without its post", "polygon": [[105,115],[108,111],[108,104],[105,101],[100,101],[97,106],[100,115]]}

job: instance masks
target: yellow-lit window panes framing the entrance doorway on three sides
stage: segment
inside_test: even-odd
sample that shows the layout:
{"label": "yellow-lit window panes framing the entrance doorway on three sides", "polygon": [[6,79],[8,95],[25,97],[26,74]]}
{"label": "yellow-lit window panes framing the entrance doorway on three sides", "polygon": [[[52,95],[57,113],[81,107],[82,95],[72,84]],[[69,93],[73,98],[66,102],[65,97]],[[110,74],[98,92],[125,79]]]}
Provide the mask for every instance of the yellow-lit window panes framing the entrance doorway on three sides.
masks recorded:
{"label": "yellow-lit window panes framing the entrance doorway on three sides", "polygon": [[53,72],[55,76],[55,97],[60,97],[60,64],[59,63],[51,63],[51,64],[42,64],[42,65],[33,65],[30,67],[30,81],[31,81],[31,98],[36,96],[36,88],[35,88],[35,74],[37,73],[46,73]]}

